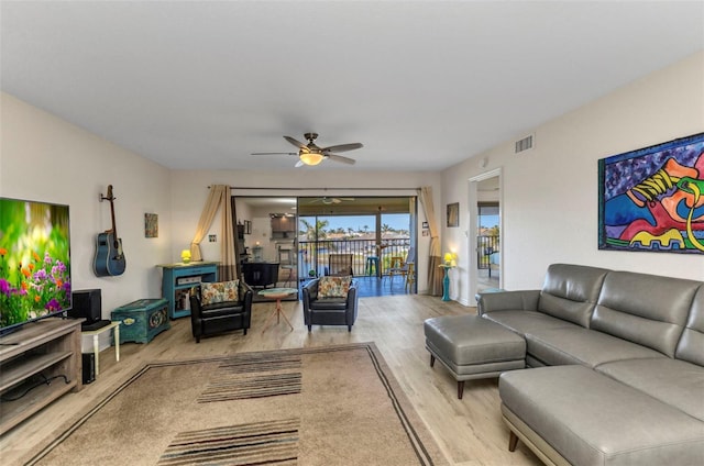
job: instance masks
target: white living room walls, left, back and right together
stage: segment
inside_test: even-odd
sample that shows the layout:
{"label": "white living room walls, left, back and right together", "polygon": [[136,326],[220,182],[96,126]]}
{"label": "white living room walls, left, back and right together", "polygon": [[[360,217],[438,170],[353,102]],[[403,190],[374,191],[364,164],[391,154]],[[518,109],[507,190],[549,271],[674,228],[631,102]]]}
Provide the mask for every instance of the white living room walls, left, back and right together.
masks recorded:
{"label": "white living room walls, left, back and right together", "polygon": [[[257,196],[350,196],[342,188],[431,186],[436,221],[444,225],[444,206],[460,202],[460,228],[442,226],[442,252],[455,248],[459,268],[453,298],[472,304],[466,235],[469,179],[503,167],[504,287],[537,288],[556,262],[588,264],[674,277],[704,279],[701,255],[601,252],[597,249],[597,160],[704,131],[704,52],[535,129],[536,148],[514,155],[514,141],[476,154],[439,173],[355,170],[168,170],[87,131],[2,93],[0,196],[68,203],[72,207],[74,289],[101,288],[103,318],[121,304],[161,296],[157,264],[178,262],[188,247],[208,195],[208,186],[310,188],[310,191],[257,191]],[[517,137],[522,136],[517,135]],[[485,167],[480,160],[486,158]],[[95,236],[110,228],[109,203],[98,202],[107,185],[116,189],[118,230],[128,269],[123,276],[92,274]],[[409,189],[400,195],[415,195]],[[157,213],[158,238],[144,237],[144,213]],[[419,212],[419,224],[425,221]],[[204,257],[219,257],[220,219],[204,243]],[[429,237],[418,238],[419,290],[426,289]]]}

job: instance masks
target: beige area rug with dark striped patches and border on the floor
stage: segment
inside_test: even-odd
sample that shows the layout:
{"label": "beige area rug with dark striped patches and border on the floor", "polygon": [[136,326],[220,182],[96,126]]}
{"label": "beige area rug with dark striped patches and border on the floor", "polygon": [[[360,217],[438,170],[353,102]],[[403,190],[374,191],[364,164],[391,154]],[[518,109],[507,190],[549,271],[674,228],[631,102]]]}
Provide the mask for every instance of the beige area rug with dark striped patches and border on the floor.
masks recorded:
{"label": "beige area rug with dark striped patches and border on the floor", "polygon": [[444,465],[373,343],[146,365],[30,465]]}

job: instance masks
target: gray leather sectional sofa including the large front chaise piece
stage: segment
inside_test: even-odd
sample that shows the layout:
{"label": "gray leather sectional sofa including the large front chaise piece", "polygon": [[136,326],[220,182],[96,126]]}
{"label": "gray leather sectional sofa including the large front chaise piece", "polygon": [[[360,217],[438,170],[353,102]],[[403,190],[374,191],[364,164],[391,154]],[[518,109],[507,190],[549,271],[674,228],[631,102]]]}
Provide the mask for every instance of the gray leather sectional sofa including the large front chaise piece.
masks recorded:
{"label": "gray leather sectional sofa including the large front chaise piece", "polygon": [[[704,270],[704,268],[702,269]],[[546,464],[704,465],[704,282],[554,264],[541,290],[479,296],[526,341],[502,413]]]}

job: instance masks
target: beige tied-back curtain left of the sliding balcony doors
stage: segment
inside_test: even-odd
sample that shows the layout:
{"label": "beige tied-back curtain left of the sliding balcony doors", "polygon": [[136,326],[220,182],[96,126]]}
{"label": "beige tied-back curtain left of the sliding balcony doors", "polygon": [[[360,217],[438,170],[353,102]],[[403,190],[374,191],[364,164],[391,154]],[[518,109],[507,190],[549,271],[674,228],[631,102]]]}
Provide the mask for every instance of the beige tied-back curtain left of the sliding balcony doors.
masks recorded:
{"label": "beige tied-back curtain left of the sliding balcony doors", "polygon": [[208,233],[212,220],[222,208],[222,229],[220,232],[222,242],[220,248],[219,277],[221,280],[230,280],[237,276],[234,271],[234,233],[232,225],[232,209],[230,207],[230,187],[226,185],[213,185],[206,201],[206,207],[200,214],[196,234],[190,243],[190,256],[193,260],[202,260],[200,242]]}

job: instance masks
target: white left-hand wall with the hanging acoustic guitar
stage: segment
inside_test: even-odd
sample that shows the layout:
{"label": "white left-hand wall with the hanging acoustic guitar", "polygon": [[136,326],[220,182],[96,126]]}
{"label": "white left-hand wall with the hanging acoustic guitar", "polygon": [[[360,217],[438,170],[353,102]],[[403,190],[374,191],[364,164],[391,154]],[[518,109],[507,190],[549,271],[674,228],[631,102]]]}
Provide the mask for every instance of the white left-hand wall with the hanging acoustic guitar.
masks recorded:
{"label": "white left-hand wall with the hanging acoustic guitar", "polygon": [[[70,207],[73,289],[100,288],[103,319],[119,306],[161,297],[155,265],[172,257],[169,171],[10,95],[1,95],[0,108],[0,196]],[[110,202],[98,200],[108,185],[127,269],[96,277],[96,235],[111,228]],[[144,213],[158,214],[158,237],[144,237]]]}

